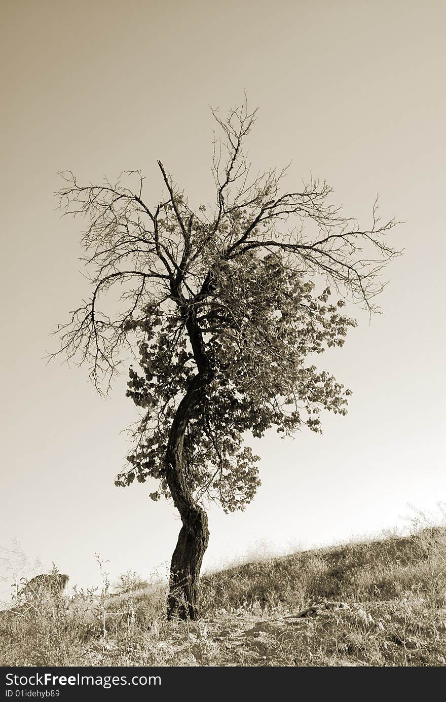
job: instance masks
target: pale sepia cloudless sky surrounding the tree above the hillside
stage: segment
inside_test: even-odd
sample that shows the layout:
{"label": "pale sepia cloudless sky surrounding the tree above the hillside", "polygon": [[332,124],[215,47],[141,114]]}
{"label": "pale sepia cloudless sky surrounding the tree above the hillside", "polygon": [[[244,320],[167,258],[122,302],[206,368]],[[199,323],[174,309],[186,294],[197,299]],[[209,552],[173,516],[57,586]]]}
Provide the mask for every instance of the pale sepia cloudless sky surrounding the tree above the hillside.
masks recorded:
{"label": "pale sepia cloudless sky surrounding the tree above the hillside", "polygon": [[321,365],[352,388],[324,435],[256,441],[263,485],[245,512],[214,508],[205,567],[266,542],[277,551],[379,534],[408,504],[435,510],[445,475],[445,22],[428,0],[6,0],[1,25],[0,545],[54,560],[71,583],[166,564],[180,522],[154,484],[114,487],[136,419],[126,378],[106,402],[86,369],[44,356],[53,326],[88,296],[80,221],[60,219],[58,171],[86,183],[130,168],[156,202],[156,159],[199,203],[212,195],[209,105],[259,105],[256,168],[310,172],[343,213],[383,218],[405,255],[383,314]]}

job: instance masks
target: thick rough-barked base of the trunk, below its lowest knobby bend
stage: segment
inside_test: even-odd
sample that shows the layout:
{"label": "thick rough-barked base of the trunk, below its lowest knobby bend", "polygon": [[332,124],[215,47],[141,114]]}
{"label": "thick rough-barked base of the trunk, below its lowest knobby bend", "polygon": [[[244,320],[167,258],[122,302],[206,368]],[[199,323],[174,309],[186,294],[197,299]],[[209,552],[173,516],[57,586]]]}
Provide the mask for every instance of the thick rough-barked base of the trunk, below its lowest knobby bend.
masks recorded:
{"label": "thick rough-barked base of the trunk, below its lowest knobby bend", "polygon": [[171,561],[167,616],[198,619],[198,581],[209,542],[206,512],[198,505],[184,515]]}

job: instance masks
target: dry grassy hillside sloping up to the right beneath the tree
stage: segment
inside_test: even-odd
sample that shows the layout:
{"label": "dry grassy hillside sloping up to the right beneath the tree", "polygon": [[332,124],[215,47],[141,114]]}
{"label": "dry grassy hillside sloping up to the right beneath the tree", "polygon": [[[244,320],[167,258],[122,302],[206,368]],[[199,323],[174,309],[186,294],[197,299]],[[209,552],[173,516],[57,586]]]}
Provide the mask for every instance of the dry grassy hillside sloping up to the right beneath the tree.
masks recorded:
{"label": "dry grassy hillside sloping up to the right beneath the tree", "polygon": [[446,529],[202,578],[202,621],[131,578],[0,614],[1,665],[446,665]]}

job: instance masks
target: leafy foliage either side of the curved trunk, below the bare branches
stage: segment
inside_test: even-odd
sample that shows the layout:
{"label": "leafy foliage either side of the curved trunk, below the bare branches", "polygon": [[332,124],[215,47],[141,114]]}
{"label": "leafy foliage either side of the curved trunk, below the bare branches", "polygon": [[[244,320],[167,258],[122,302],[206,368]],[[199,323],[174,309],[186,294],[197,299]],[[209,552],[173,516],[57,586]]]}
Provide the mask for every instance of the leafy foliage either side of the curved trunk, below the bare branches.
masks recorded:
{"label": "leafy foliage either side of the curved trunk, below the bare branches", "polygon": [[[221,263],[212,277],[213,292],[194,307],[213,371],[195,408],[184,440],[188,484],[197,496],[208,495],[226,511],[242,508],[258,486],[256,461],[245,432],[262,437],[271,427],[294,433],[305,424],[320,430],[321,409],[346,413],[348,390],[333,376],[306,364],[312,352],[342,345],[352,319],[340,314],[343,301],[329,304],[329,289],[314,296],[274,253],[246,251]],[[196,371],[188,332],[178,314],[145,310],[139,343],[140,369],[130,369],[127,395],[145,411],[138,428],[132,465],[117,479],[164,479],[169,428],[178,402]]]}

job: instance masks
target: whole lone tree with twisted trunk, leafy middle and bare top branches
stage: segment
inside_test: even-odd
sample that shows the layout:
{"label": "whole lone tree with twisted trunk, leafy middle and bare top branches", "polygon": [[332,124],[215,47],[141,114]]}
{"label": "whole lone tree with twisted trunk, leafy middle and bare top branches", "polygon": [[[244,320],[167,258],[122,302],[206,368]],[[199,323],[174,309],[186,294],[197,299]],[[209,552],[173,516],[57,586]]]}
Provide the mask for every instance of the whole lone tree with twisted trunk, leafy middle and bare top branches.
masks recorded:
{"label": "whole lone tree with twisted trunk, leafy middle and bare top branches", "polygon": [[[183,526],[171,561],[169,616],[199,616],[197,585],[209,541],[206,501],[244,509],[260,484],[246,432],[320,432],[322,409],[346,414],[350,390],[308,357],[341,346],[355,321],[346,300],[374,311],[380,274],[398,251],[395,225],[369,229],[329,203],[326,183],[282,189],[285,171],[250,177],[247,102],[214,136],[216,204],[192,210],[158,161],[165,197],[152,206],[139,171],[117,183],[81,185],[63,173],[60,208],[84,216],[81,243],[93,292],[60,327],[62,353],[85,364],[99,392],[130,350],[126,394],[140,408],[128,470],[116,484],[154,478],[150,497],[171,498]],[[132,186],[133,183],[133,186]],[[100,297],[119,286],[114,314]],[[336,291],[332,301],[331,289]],[[136,353],[138,352],[138,354]]]}

